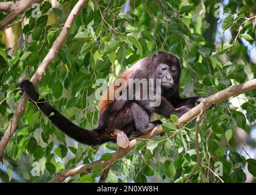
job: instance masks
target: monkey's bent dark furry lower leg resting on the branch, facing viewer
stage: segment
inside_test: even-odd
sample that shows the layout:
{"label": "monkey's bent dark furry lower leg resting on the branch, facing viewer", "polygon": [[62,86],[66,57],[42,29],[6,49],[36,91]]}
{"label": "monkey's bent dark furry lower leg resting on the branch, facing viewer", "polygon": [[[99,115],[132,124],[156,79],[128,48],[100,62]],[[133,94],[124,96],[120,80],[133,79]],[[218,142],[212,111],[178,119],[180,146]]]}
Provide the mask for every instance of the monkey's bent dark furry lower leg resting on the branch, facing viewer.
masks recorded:
{"label": "monkey's bent dark furry lower leg resting on the branch, facing viewer", "polygon": [[154,129],[156,124],[149,122],[149,114],[144,110],[141,105],[132,102],[132,118],[135,123],[136,130],[141,133],[149,132]]}

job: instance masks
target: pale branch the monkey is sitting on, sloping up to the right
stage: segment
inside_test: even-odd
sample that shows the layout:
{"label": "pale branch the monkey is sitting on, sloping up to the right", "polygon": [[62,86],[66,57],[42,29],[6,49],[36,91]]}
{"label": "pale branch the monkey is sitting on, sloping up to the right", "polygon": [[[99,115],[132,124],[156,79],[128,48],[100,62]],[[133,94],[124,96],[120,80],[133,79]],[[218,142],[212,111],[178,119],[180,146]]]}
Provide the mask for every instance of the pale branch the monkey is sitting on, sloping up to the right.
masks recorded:
{"label": "pale branch the monkey is sitting on, sloping up to the right", "polygon": [[[246,93],[247,91],[254,90],[254,89],[256,89],[256,79],[252,79],[240,85],[231,86],[229,88],[226,88],[225,90],[219,91],[218,93],[215,93],[212,96],[205,98],[204,101],[201,102],[201,104],[197,105],[196,107],[191,109],[189,112],[182,115],[179,118],[179,121],[175,125],[178,126],[179,124],[185,124],[191,121],[192,119],[196,118],[196,116],[199,116],[202,112],[207,110],[207,108],[209,108],[213,104],[222,102],[232,96]],[[163,132],[162,126],[157,126],[151,132],[143,134],[140,137],[138,137],[138,139],[134,139],[130,141],[130,144],[127,148],[125,149],[119,148],[118,151],[113,152],[112,158],[110,160],[107,160],[107,161],[96,160],[91,163],[88,163],[87,165],[80,165],[80,166],[76,166],[75,168],[66,169],[65,171],[58,173],[57,176],[55,176],[50,182],[52,183],[63,182],[69,176],[91,172],[91,169],[93,169],[94,166],[97,166],[97,165],[100,165],[103,168],[106,168],[108,165],[111,165],[115,160],[118,160],[119,158],[124,157],[124,155],[126,155],[128,152],[132,151],[132,149],[136,146],[137,141],[139,141],[140,138],[150,139],[162,132]]]}

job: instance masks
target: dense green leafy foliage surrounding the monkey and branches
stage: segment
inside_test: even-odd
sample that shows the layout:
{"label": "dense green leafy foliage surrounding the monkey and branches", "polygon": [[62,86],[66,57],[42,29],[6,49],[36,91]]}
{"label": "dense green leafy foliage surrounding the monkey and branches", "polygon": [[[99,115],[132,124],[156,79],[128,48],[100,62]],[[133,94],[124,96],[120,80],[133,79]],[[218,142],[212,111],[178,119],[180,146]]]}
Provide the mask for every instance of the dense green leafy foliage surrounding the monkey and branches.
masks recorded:
{"label": "dense green leafy foliage surrounding the monkey and branches", "polygon": [[[52,8],[51,1],[43,1],[39,18],[32,16],[33,9],[21,15],[12,24],[12,48],[8,48],[8,32],[0,32],[0,138],[21,97],[21,91],[15,90],[20,79],[32,77],[76,2],[59,0],[60,5]],[[251,46],[255,51],[255,1],[225,1],[223,16],[216,3],[130,0],[127,6],[125,0],[89,1],[38,84],[41,97],[76,124],[93,129],[98,118],[94,92],[100,87],[96,80],[112,82],[138,59],[159,50],[179,55],[184,97],[209,96],[254,79],[256,52],[252,59],[248,49]],[[0,19],[5,16],[0,13]],[[171,116],[163,119],[165,135],[141,140],[113,163],[106,181],[245,182],[249,173],[256,177],[255,139],[250,137],[255,101],[253,90],[204,113],[199,133],[203,174],[199,167],[194,169],[196,121],[176,128],[170,121],[177,118]],[[239,132],[245,132],[245,140]],[[5,150],[0,179],[48,182],[63,169],[107,160],[116,149],[113,143],[100,147],[77,144],[28,103]],[[254,154],[247,154],[247,149],[254,149]],[[38,166],[40,172],[35,176]],[[96,166],[90,174],[69,177],[66,182],[97,182],[102,171]]]}

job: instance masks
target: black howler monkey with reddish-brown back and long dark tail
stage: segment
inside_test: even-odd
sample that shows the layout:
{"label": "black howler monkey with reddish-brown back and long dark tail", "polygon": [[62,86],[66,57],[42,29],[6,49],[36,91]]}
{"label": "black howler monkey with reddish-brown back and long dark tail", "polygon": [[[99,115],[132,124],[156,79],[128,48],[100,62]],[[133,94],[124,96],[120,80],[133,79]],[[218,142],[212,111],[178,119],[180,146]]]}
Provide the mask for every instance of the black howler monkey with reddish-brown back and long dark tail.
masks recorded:
{"label": "black howler monkey with reddish-brown back and long dark tail", "polygon": [[[121,74],[119,78],[127,82],[129,79],[146,79],[147,81],[160,79],[160,105],[152,106],[152,100],[149,98],[134,98],[132,100],[102,98],[99,102],[98,126],[93,130],[85,130],[76,126],[44,99],[38,100],[39,95],[29,80],[23,80],[20,83],[20,88],[37,104],[41,112],[48,116],[51,122],[66,135],[80,143],[94,146],[107,141],[116,141],[116,137],[112,136],[115,129],[123,131],[127,137],[132,135],[134,131],[145,133],[154,129],[156,124],[150,122],[152,113],[163,115],[166,118],[169,118],[171,114],[180,117],[190,108],[199,104],[202,101],[200,97],[180,98],[180,72],[179,59],[174,54],[160,51],[141,59]],[[155,86],[154,84],[153,91],[157,93]],[[127,85],[126,87],[128,90],[131,86]],[[105,91],[105,97],[106,95],[108,97],[112,92],[108,88]],[[135,93],[132,95],[135,96]]]}

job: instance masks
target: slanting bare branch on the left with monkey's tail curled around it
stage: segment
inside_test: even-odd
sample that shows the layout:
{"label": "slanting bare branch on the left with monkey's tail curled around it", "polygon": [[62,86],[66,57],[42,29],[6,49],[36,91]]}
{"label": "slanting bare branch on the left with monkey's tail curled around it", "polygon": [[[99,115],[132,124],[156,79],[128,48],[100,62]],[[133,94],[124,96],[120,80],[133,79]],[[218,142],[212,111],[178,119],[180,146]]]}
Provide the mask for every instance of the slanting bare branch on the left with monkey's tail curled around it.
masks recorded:
{"label": "slanting bare branch on the left with monkey's tail curled around it", "polygon": [[[77,4],[74,6],[73,10],[71,10],[71,13],[68,16],[68,19],[66,19],[66,23],[62,29],[62,32],[60,32],[59,37],[52,44],[52,48],[50,49],[46,57],[44,57],[43,62],[41,62],[34,76],[32,76],[32,78],[30,79],[30,81],[34,83],[34,85],[37,85],[37,83],[40,82],[41,78],[45,74],[46,68],[48,68],[48,66],[52,63],[52,61],[57,57],[57,54],[60,51],[60,48],[62,48],[63,43],[68,38],[71,26],[73,25],[77,15],[81,12],[81,10],[84,8],[84,5],[87,4],[87,2],[88,0],[79,0]],[[9,143],[10,138],[12,137],[13,133],[16,130],[16,126],[21,118],[22,113],[25,110],[28,99],[29,99],[28,96],[24,93],[23,96],[21,97],[21,101],[18,104],[18,108],[16,109],[13,115],[13,118],[10,121],[9,126],[7,127],[7,130],[4,133],[2,140],[0,141],[0,162],[2,163],[3,163],[4,149]]]}

